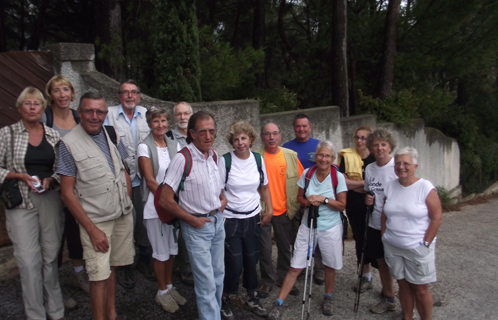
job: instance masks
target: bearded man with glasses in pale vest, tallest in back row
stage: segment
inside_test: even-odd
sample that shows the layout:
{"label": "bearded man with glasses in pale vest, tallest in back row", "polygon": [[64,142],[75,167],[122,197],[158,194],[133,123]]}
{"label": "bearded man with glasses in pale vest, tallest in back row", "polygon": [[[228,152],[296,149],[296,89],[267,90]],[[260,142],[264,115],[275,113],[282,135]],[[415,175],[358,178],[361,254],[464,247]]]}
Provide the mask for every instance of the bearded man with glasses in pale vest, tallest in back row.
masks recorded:
{"label": "bearded man with glasses in pale vest, tallest in back row", "polygon": [[[150,132],[145,113],[147,109],[139,106],[140,88],[134,80],[127,80],[119,86],[118,100],[120,104],[109,107],[109,113],[104,125],[111,125],[116,130],[119,140],[123,142],[128,151],[125,163],[130,170],[132,201],[134,214],[134,238],[138,244],[137,269],[145,278],[155,281],[152,271],[150,243],[147,230],[143,224],[143,202],[140,188],[140,172],[138,170],[137,146]],[[118,268],[118,283],[125,289],[135,287],[135,274],[132,266]]]}

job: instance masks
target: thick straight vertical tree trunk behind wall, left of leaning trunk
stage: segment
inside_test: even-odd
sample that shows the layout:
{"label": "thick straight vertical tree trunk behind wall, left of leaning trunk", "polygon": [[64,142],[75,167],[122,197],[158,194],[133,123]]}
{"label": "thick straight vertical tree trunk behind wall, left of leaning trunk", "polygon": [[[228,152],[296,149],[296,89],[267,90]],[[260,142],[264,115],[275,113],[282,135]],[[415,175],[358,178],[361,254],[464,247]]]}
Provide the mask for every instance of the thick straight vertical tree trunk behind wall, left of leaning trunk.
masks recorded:
{"label": "thick straight vertical tree trunk behind wall, left of leaning trunk", "polygon": [[339,106],[341,117],[349,116],[347,65],[347,0],[336,0],[332,4],[332,104]]}

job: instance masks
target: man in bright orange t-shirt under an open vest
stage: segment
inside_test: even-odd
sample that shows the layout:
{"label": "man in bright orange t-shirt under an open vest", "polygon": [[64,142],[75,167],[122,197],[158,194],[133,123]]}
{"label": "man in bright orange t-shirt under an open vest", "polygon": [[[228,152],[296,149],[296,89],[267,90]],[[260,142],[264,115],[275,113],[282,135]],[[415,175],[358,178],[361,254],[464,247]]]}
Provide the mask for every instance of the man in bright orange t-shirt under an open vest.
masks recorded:
{"label": "man in bright orange t-shirt under an open vest", "polygon": [[[266,298],[273,286],[281,286],[290,267],[291,260],[291,220],[299,209],[297,202],[297,181],[304,169],[297,153],[279,147],[282,139],[280,128],[274,123],[266,124],[261,130],[264,150],[258,152],[264,157],[268,185],[273,204],[271,223],[261,226],[261,248],[259,268],[261,286],[260,298]],[[263,210],[264,211],[264,210]],[[272,263],[271,228],[277,243],[277,272]],[[290,294],[298,295],[299,289],[293,287]]]}

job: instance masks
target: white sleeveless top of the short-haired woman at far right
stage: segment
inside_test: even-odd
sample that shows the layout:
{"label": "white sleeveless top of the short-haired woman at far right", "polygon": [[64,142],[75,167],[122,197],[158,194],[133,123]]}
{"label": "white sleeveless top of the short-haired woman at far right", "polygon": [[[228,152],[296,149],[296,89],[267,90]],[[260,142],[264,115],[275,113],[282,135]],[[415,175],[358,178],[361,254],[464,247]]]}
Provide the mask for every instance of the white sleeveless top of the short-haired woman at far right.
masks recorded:
{"label": "white sleeveless top of the short-haired woman at far right", "polygon": [[419,179],[408,187],[403,187],[398,179],[385,186],[387,217],[384,240],[399,248],[415,248],[424,240],[429,227],[429,210],[425,200],[434,185]]}

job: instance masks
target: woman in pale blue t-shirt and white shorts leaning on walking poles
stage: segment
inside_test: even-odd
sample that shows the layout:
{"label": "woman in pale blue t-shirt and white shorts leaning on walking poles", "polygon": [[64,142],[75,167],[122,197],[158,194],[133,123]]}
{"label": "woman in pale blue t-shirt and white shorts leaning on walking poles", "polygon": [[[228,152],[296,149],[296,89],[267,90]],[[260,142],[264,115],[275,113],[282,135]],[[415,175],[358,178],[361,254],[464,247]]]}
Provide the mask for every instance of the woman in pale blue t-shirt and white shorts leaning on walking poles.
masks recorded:
{"label": "woman in pale blue t-shirt and white shorts leaning on walking poles", "polygon": [[[340,212],[346,207],[347,187],[342,173],[332,165],[335,159],[332,142],[320,142],[316,149],[315,159],[316,166],[306,169],[298,181],[297,199],[302,206],[307,207],[307,210],[294,243],[291,267],[284,279],[277,301],[275,301],[269,314],[271,320],[283,319],[283,302],[301,271],[309,264],[309,251],[314,251],[317,243],[321,248],[327,248],[327,250],[322,250],[325,271],[325,295],[321,305],[322,313],[332,315],[335,270],[341,269],[343,263],[343,226]],[[308,219],[312,206],[318,207],[317,219]],[[312,230],[314,224],[316,224],[316,233]],[[310,237],[311,232],[316,237]],[[311,238],[313,239],[311,240]],[[306,292],[304,294],[306,295]]]}

